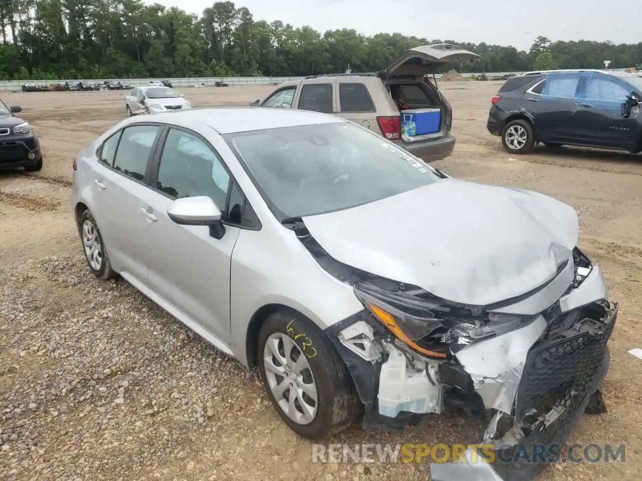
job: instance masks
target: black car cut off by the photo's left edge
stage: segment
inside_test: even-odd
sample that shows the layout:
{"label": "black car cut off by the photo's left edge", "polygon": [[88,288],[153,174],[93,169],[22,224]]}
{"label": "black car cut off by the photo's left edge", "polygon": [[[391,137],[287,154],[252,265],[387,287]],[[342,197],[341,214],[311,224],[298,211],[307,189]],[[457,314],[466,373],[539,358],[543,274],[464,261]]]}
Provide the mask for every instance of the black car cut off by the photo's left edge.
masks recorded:
{"label": "black car cut off by the photo's left edge", "polygon": [[29,172],[42,169],[42,151],[38,135],[31,126],[17,117],[22,108],[6,106],[0,100],[0,169],[24,167]]}

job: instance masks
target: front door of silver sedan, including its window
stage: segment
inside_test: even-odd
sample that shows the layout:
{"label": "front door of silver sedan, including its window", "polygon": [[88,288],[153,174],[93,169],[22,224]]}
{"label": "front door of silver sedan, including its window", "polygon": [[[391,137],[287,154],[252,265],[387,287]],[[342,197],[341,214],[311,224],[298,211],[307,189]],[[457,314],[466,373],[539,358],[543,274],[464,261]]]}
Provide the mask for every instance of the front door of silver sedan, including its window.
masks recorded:
{"label": "front door of silver sedan, including its window", "polygon": [[195,323],[223,340],[230,335],[230,264],[239,229],[221,239],[205,226],[184,226],[167,214],[181,197],[209,196],[225,210],[230,175],[207,140],[170,128],[152,189],[141,198],[149,287]]}

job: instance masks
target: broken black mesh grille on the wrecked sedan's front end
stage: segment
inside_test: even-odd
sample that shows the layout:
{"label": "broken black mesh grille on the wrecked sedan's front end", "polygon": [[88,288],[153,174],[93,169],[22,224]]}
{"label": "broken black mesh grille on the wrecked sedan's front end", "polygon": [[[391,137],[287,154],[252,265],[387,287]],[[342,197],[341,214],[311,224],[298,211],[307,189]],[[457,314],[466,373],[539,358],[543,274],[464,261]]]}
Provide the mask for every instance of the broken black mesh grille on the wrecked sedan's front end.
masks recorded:
{"label": "broken black mesh grille on the wrecked sedan's front end", "polygon": [[517,391],[517,423],[560,401],[584,398],[600,375],[617,310],[617,305],[594,303],[551,323],[526,358]]}

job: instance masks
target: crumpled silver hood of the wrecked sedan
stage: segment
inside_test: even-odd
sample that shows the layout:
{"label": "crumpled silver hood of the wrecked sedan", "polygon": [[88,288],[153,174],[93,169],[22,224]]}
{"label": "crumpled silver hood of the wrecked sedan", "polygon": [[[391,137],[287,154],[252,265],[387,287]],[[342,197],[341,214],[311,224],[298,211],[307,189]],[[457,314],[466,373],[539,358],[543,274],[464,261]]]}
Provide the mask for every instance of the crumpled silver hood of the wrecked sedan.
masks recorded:
{"label": "crumpled silver hood of the wrecked sedan", "polygon": [[453,179],[303,221],[343,264],[470,305],[541,286],[578,240],[577,214],[560,201]]}

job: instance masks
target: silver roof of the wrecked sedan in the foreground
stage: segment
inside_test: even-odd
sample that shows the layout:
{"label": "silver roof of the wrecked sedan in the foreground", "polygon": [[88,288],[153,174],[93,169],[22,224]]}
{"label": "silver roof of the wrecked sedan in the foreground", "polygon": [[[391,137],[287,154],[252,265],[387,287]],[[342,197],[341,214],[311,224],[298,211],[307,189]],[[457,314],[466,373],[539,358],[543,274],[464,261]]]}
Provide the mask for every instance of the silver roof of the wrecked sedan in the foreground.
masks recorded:
{"label": "silver roof of the wrecked sedan in the foreground", "polygon": [[347,122],[340,117],[319,112],[266,107],[190,108],[131,119],[132,122],[159,121],[185,128],[195,123],[204,124],[220,134]]}

